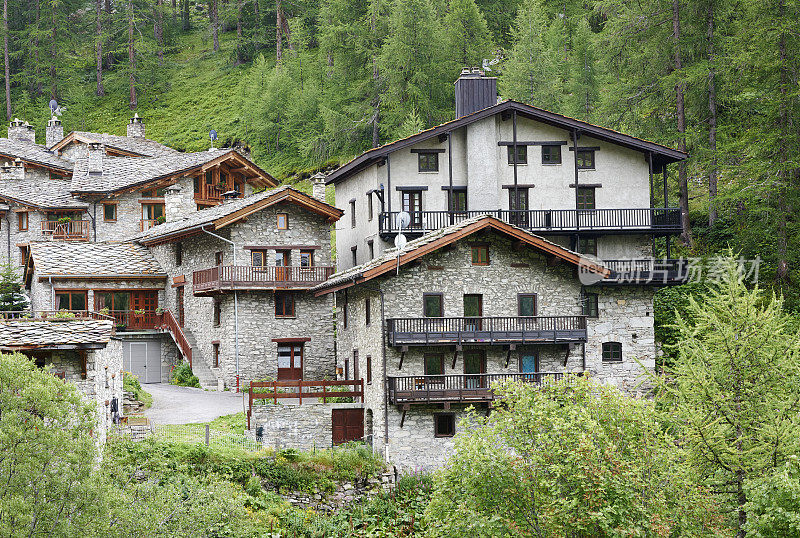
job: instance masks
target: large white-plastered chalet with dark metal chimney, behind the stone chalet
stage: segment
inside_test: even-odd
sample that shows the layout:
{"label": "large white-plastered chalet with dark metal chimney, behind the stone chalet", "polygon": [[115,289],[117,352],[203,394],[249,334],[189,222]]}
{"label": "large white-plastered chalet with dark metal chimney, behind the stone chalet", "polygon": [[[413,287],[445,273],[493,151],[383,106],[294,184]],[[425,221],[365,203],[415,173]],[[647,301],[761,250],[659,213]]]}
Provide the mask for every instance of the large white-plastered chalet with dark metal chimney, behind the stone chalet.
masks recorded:
{"label": "large white-plastered chalet with dark metal chimney, behind the stone chalet", "polygon": [[669,249],[681,215],[667,170],[685,153],[496,96],[496,79],[467,69],[456,119],[327,176],[345,212],[338,270],[377,257],[398,233],[416,238],[482,214],[600,258]]}

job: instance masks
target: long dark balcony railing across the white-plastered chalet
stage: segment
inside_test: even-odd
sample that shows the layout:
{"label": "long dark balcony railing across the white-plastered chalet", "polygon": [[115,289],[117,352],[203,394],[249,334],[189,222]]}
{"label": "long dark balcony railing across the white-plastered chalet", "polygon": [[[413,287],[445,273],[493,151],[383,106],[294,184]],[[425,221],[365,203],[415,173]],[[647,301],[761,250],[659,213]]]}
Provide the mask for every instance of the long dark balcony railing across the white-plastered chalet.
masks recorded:
{"label": "long dark balcony railing across the white-plastered chalet", "polygon": [[[380,214],[379,231],[398,232],[397,211]],[[531,232],[678,233],[681,213],[673,207],[637,209],[530,209],[520,211],[410,211],[411,223],[403,233],[426,233],[478,215],[491,215]]]}

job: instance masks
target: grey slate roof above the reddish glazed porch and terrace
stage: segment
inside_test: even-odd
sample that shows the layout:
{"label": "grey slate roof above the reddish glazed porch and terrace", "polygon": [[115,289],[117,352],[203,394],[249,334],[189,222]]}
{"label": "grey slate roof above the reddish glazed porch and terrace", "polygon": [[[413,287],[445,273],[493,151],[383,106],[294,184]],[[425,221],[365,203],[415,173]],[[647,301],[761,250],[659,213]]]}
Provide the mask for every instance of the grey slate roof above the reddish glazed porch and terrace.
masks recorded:
{"label": "grey slate roof above the reddish glazed porch and terrace", "polygon": [[39,276],[166,277],[150,251],[136,243],[35,241],[30,249]]}

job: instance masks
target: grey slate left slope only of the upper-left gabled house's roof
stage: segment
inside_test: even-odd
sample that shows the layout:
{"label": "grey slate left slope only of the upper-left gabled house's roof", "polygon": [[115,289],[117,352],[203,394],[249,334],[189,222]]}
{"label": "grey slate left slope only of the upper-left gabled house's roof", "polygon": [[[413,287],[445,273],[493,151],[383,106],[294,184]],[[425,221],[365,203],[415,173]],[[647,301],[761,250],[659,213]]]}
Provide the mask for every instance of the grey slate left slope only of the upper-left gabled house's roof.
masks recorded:
{"label": "grey slate left slope only of the upper-left gabled house's roof", "polygon": [[215,149],[197,153],[173,152],[152,158],[103,157],[103,173],[89,174],[87,159],[75,161],[72,192],[113,192],[147,183],[159,177],[201,166],[234,150]]}

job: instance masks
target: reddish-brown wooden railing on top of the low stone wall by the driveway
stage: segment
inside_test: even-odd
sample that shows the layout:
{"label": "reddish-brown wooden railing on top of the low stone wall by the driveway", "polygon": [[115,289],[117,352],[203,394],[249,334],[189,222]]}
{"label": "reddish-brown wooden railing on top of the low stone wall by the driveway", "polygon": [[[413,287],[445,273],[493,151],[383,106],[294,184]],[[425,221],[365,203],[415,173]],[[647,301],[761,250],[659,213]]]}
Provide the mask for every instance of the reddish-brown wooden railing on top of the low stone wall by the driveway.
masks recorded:
{"label": "reddish-brown wooden railing on top of the low stone wall by the driveway", "polygon": [[[352,390],[336,391],[330,387],[352,387]],[[305,390],[304,390],[305,389]],[[256,400],[272,400],[277,404],[279,398],[296,399],[300,405],[303,398],[322,399],[328,403],[328,398],[360,398],[364,401],[364,380],[354,379],[346,381],[253,381],[248,390],[247,429],[250,429],[250,414]]]}

